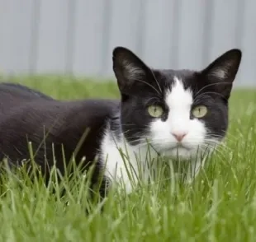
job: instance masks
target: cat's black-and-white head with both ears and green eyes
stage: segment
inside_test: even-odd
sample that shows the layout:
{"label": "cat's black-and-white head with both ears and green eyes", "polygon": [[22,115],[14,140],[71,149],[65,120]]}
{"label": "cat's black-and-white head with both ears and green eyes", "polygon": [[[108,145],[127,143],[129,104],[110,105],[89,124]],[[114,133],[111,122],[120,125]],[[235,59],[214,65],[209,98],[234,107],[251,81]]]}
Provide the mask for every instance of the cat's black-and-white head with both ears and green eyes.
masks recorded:
{"label": "cat's black-and-white head with both ears and green eyes", "polygon": [[201,71],[159,70],[129,49],[113,50],[121,125],[131,145],[145,139],[165,156],[196,156],[228,128],[228,100],[242,53],[231,49]]}

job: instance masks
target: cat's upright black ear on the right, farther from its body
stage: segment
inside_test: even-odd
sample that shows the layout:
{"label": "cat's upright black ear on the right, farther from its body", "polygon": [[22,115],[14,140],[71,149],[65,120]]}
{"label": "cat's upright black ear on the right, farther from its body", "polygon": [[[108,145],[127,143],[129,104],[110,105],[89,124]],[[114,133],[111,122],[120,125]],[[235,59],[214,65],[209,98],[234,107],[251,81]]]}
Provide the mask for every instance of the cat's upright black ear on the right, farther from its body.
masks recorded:
{"label": "cat's upright black ear on the right, farther from its body", "polygon": [[242,52],[239,49],[230,49],[216,58],[201,72],[207,80],[206,85],[211,86],[226,99],[229,99],[241,58]]}

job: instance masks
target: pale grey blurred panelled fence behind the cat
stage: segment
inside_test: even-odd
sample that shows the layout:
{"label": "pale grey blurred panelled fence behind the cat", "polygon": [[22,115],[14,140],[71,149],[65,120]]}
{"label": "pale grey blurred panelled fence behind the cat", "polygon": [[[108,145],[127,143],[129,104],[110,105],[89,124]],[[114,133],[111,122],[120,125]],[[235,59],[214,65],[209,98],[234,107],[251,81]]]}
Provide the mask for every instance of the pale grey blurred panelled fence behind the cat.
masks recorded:
{"label": "pale grey blurred panelled fence behind the cat", "polygon": [[236,86],[256,86],[255,0],[0,0],[0,75],[112,78],[126,46],[161,68],[206,67],[243,50]]}

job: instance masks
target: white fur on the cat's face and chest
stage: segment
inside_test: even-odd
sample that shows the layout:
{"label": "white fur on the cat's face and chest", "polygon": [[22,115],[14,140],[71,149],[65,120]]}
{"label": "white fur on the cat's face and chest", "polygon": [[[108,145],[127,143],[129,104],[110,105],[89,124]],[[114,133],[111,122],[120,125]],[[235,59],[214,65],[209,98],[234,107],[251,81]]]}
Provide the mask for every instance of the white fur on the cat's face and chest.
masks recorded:
{"label": "white fur on the cat's face and chest", "polygon": [[[136,175],[141,170],[139,167],[145,167],[145,161],[149,160],[148,152],[150,152],[150,159],[156,158],[157,153],[160,153],[161,156],[177,159],[178,155],[183,160],[192,161],[193,176],[197,174],[200,166],[203,165],[197,157],[199,157],[198,147],[200,147],[200,151],[204,151],[204,146],[201,147],[201,145],[204,144],[206,127],[199,119],[190,119],[193,102],[192,91],[185,90],[183,82],[175,77],[172,88],[166,93],[165,102],[169,109],[168,119],[165,121],[156,119],[149,125],[150,134],[147,138],[149,138],[149,142],[154,146],[154,149],[151,148],[149,150],[148,147],[142,145],[131,147],[123,136],[117,142],[110,129],[107,129],[105,133],[102,141],[101,156],[103,161],[107,161],[106,175],[114,181],[114,184],[116,182],[119,184],[122,181],[122,184],[125,185],[126,193],[130,193],[133,190],[133,182],[137,184]],[[181,142],[186,148],[177,147],[178,142],[173,133],[186,133]],[[121,152],[127,158],[124,159],[124,156],[121,156]],[[130,165],[126,166],[124,160],[126,163],[130,162]],[[138,163],[138,161],[140,162]],[[127,167],[129,172],[126,170]],[[145,167],[143,169],[141,173],[144,180],[149,178],[150,171],[154,168]],[[132,181],[130,181],[129,173],[133,176]]]}

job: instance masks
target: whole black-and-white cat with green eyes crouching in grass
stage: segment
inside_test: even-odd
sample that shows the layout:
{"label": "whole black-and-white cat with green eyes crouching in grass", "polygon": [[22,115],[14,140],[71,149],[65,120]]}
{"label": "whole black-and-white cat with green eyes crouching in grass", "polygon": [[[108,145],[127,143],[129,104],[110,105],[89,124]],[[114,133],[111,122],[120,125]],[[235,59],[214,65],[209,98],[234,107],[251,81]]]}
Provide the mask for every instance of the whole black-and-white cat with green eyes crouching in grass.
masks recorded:
{"label": "whole black-and-white cat with green eyes crouching in grass", "polygon": [[31,141],[35,161],[47,176],[54,143],[56,165],[64,172],[62,146],[69,161],[89,128],[76,161],[85,157],[86,167],[95,162],[92,185],[103,173],[102,196],[119,184],[133,192],[140,167],[141,180],[147,182],[162,156],[191,162],[191,182],[204,165],[202,154],[211,153],[225,137],[241,58],[240,49],[230,49],[200,71],[153,69],[130,49],[116,47],[112,64],[120,100],[55,100],[26,86],[2,83],[0,158],[21,165],[30,158]]}

